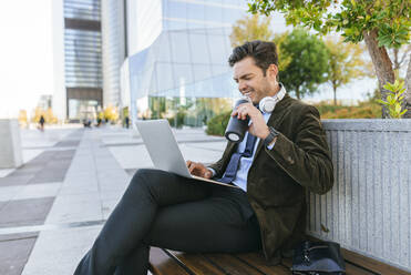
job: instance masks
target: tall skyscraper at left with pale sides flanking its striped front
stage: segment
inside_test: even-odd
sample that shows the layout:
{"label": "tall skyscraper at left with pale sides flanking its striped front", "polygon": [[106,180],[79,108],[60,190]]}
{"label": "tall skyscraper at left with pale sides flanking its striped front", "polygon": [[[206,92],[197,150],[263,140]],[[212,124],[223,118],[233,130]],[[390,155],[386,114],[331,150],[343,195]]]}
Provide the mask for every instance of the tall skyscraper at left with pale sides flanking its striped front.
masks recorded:
{"label": "tall skyscraper at left with pale sides flanking its striped front", "polygon": [[53,0],[53,110],[60,120],[92,118],[121,104],[125,0]]}

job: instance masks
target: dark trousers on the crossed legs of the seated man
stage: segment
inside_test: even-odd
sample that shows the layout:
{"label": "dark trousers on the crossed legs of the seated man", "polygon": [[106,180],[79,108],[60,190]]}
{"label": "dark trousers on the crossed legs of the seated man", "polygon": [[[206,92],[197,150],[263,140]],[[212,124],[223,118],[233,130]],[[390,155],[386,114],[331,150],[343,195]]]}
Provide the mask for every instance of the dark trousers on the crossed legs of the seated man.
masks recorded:
{"label": "dark trousers on the crossed legs of the seated man", "polygon": [[138,170],[74,274],[146,274],[150,246],[248,252],[260,234],[243,190]]}

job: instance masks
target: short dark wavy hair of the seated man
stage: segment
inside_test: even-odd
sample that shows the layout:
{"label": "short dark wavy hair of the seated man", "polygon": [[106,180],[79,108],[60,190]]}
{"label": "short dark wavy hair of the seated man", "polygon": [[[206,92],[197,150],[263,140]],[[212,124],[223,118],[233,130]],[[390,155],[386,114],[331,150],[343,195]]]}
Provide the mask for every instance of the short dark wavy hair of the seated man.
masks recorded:
{"label": "short dark wavy hair of the seated man", "polygon": [[277,47],[274,42],[255,40],[234,48],[228,63],[233,67],[238,61],[251,57],[256,65],[261,68],[264,75],[270,64],[278,67]]}

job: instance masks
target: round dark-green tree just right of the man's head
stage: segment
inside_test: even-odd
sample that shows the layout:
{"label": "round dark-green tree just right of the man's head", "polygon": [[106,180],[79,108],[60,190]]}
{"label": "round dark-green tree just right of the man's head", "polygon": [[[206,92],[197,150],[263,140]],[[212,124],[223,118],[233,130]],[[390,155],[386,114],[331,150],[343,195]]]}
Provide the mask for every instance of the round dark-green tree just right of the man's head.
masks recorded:
{"label": "round dark-green tree just right of the man's head", "polygon": [[328,51],[317,37],[295,29],[287,35],[281,49],[291,62],[279,72],[279,79],[297,99],[315,93],[318,84],[327,81]]}

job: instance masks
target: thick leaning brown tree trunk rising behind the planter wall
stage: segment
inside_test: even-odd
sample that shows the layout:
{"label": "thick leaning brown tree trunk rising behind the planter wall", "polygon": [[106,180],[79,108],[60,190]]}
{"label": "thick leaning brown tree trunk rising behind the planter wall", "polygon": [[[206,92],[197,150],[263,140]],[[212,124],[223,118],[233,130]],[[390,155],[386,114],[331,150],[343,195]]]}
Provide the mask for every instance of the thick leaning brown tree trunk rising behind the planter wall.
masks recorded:
{"label": "thick leaning brown tree trunk rising behind the planter wall", "polygon": [[[377,30],[364,31],[363,37],[367,44],[368,52],[371,55],[373,67],[376,69],[379,88],[381,91],[382,100],[387,99],[388,91],[382,86],[387,83],[393,83],[395,80],[394,71],[392,70],[392,63],[390,57],[387,53],[384,47],[378,47]],[[382,118],[389,118],[387,108],[382,108]]]}

